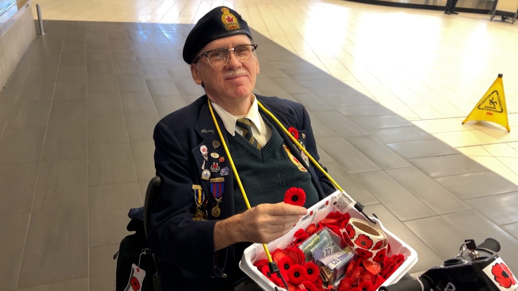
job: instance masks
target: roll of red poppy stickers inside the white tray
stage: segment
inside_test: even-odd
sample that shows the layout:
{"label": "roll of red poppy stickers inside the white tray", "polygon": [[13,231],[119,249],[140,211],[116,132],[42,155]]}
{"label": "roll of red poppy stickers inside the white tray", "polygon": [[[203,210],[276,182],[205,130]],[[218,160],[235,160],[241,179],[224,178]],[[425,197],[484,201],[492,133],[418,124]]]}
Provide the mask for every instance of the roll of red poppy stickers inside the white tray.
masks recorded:
{"label": "roll of red poppy stickers inside the white tray", "polygon": [[364,220],[351,218],[341,232],[343,239],[358,256],[372,263],[383,263],[389,247],[389,239],[380,228]]}

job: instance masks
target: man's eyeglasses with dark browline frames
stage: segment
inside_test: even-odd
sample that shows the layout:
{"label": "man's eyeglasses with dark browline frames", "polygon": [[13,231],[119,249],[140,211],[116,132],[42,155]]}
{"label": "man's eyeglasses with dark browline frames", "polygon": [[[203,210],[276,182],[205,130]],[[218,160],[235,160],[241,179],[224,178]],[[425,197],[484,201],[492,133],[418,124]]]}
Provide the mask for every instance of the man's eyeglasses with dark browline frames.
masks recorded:
{"label": "man's eyeglasses with dark browline frames", "polygon": [[239,62],[247,63],[255,59],[256,49],[257,44],[241,44],[234,49],[215,49],[199,55],[193,63],[197,63],[200,58],[206,56],[211,67],[221,68],[228,64],[230,51],[234,51],[234,54],[236,55]]}

